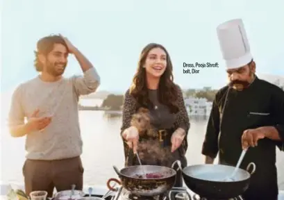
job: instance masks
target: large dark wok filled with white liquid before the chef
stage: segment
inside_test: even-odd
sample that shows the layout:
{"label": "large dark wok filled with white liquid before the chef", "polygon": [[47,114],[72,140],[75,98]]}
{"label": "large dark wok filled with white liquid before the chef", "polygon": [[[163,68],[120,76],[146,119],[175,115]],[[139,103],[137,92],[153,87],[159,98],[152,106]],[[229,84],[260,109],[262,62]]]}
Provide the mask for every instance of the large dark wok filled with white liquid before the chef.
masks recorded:
{"label": "large dark wok filled with white liquid before the chef", "polygon": [[[250,167],[253,167],[251,173]],[[247,188],[251,174],[256,171],[256,165],[249,163],[247,171],[237,168],[233,180],[228,177],[235,167],[227,165],[192,165],[183,168],[183,180],[190,190],[206,199],[231,199],[239,197]]]}

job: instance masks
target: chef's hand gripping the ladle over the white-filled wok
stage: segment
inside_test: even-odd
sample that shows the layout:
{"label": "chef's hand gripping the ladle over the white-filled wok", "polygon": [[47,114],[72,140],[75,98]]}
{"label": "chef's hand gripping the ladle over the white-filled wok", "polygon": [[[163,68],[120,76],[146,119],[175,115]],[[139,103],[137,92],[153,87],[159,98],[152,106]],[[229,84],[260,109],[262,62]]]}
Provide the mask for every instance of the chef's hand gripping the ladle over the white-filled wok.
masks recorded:
{"label": "chef's hand gripping the ladle over the white-filled wok", "polygon": [[242,133],[242,149],[258,146],[258,140],[265,138],[265,133],[259,128],[248,129]]}

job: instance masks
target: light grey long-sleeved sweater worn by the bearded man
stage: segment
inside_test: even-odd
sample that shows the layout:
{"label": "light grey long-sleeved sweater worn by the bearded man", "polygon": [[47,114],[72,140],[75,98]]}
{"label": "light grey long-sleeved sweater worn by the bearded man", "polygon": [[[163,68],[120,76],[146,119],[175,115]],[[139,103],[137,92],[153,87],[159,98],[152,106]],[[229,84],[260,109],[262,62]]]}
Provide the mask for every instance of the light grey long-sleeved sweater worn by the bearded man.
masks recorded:
{"label": "light grey long-sleeved sweater worn by the bearded man", "polygon": [[38,108],[39,117],[53,116],[42,131],[26,133],[26,158],[58,160],[80,156],[83,142],[78,122],[78,98],[95,92],[100,84],[93,67],[84,76],[44,82],[39,76],[22,83],[12,95],[9,126],[24,124]]}

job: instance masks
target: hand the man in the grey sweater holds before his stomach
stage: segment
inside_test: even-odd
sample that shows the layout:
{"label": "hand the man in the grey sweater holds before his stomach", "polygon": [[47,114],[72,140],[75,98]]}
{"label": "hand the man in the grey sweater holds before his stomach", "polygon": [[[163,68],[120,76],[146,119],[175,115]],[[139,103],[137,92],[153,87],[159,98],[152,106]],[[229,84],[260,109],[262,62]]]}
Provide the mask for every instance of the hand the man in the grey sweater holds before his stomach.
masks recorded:
{"label": "hand the man in the grey sweater holds before his stomach", "polygon": [[28,131],[42,131],[50,124],[51,117],[38,117],[39,112],[40,110],[36,109],[31,115],[31,117],[28,119],[28,122],[26,123]]}

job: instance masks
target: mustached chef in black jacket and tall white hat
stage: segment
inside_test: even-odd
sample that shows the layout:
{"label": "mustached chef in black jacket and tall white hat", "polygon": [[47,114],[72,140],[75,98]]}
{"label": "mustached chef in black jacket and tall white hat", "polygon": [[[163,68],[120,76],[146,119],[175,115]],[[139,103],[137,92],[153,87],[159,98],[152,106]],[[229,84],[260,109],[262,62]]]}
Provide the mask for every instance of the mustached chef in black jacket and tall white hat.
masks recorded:
{"label": "mustached chef in black jacket and tall white hat", "polygon": [[278,198],[276,147],[283,151],[284,92],[256,76],[256,63],[242,19],[217,27],[217,37],[226,61],[229,84],[215,96],[202,154],[213,163],[219,152],[222,165],[237,164],[247,149],[241,168],[256,164],[246,200]]}

